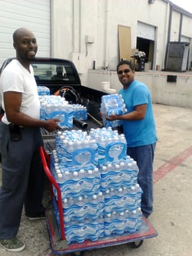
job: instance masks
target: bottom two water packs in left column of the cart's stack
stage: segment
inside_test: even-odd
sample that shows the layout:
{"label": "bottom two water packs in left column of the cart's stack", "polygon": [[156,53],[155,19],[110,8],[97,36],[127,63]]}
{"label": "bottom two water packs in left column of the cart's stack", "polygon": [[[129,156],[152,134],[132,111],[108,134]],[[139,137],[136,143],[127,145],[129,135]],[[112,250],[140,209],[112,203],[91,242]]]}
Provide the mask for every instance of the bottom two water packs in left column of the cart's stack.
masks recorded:
{"label": "bottom two water packs in left column of the cart's stack", "polygon": [[65,235],[68,243],[82,243],[89,239],[97,241],[104,236],[104,198],[100,192],[88,197],[65,200]]}

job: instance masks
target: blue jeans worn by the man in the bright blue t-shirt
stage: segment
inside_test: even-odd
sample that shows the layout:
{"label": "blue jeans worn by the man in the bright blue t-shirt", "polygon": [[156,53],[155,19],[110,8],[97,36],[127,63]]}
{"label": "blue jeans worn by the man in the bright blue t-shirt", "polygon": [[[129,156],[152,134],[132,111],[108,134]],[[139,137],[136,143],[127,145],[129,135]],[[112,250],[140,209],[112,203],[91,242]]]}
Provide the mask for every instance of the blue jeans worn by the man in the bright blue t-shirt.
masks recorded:
{"label": "blue jeans worn by the man in the bright blue t-shirt", "polygon": [[151,145],[144,145],[135,148],[127,147],[127,155],[137,161],[139,173],[138,184],[143,190],[141,196],[141,210],[144,217],[148,217],[153,211],[154,185],[153,185],[153,163],[156,142]]}

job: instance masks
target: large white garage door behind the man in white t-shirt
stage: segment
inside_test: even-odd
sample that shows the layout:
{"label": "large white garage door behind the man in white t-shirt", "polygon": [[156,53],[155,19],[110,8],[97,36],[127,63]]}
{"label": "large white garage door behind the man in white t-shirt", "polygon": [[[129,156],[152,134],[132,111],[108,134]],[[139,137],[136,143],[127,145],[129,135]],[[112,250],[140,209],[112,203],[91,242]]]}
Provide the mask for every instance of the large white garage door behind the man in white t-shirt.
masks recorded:
{"label": "large white garage door behind the man in white t-shirt", "polygon": [[37,56],[50,56],[50,1],[0,0],[0,65],[15,57],[12,33],[17,28],[29,28],[38,41]]}

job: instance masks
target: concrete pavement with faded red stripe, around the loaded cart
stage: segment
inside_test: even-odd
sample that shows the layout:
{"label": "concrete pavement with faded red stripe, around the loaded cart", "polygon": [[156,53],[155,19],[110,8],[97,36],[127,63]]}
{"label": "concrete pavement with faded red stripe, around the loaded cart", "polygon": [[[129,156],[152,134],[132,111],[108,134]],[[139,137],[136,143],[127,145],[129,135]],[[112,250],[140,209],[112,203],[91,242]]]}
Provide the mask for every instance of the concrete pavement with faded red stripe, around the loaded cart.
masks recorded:
{"label": "concrete pavement with faded red stripe, around the loaded cart", "polygon": [[[154,104],[157,148],[154,158],[154,213],[149,221],[158,232],[140,248],[129,244],[84,251],[84,256],[192,255],[192,109]],[[1,174],[1,171],[0,171]],[[48,185],[45,204],[50,207]],[[25,241],[19,256],[52,256],[45,221],[22,215],[18,237]],[[0,248],[0,256],[11,256]]]}

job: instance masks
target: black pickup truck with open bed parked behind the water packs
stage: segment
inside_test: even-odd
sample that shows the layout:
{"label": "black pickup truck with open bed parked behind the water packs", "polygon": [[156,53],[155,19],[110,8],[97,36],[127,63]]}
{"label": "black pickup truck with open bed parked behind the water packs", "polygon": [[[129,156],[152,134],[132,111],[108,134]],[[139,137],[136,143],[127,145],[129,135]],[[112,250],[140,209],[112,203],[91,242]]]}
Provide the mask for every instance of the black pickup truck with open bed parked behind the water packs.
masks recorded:
{"label": "black pickup truck with open bed parked behind the water packs", "polygon": [[[0,74],[11,61],[12,58],[8,58],[2,64]],[[103,126],[98,112],[101,105],[101,96],[107,95],[107,93],[81,85],[78,71],[73,62],[61,58],[35,58],[31,65],[38,86],[48,87],[51,95],[64,96],[71,104],[78,103],[87,107],[88,120],[86,120],[87,126],[84,131]],[[81,128],[81,125],[74,122],[73,129]],[[41,129],[41,134],[45,141],[46,151],[51,152],[54,148],[56,133],[48,133],[45,129]]]}

